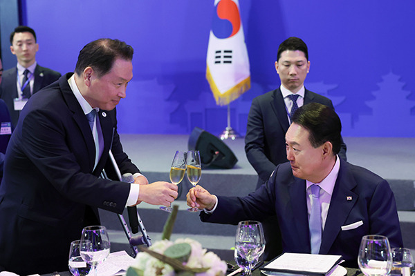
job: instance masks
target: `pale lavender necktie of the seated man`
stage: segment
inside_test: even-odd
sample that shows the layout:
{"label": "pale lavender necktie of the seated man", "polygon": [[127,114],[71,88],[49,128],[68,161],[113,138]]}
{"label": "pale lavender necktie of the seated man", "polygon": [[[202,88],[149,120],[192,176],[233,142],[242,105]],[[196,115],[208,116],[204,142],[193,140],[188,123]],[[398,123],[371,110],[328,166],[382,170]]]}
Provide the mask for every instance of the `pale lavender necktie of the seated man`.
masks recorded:
{"label": "pale lavender necktie of the seated man", "polygon": [[318,254],[322,243],[322,211],[320,208],[320,186],[311,185],[311,213],[308,227],[310,228],[311,254]]}

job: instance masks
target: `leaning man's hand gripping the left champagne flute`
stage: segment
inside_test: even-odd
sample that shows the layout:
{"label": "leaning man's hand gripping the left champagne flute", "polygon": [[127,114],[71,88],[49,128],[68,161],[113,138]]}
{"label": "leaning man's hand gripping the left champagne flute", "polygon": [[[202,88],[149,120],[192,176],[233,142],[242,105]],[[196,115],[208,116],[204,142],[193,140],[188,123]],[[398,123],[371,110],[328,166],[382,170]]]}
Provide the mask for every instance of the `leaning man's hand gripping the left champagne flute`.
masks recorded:
{"label": "leaning man's hand gripping the left champagne flute", "polygon": [[140,193],[138,194],[137,203],[141,201],[152,205],[169,206],[177,197],[177,186],[165,182],[157,181],[148,185],[140,186]]}

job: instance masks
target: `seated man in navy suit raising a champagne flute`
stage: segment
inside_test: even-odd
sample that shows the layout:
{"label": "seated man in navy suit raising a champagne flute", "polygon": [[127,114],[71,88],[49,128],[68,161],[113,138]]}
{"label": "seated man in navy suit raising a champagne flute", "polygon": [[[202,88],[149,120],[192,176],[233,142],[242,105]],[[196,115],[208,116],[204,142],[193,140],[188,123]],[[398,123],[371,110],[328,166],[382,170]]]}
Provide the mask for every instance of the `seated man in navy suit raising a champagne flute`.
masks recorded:
{"label": "seated man in navy suit raising a champagne flute", "polygon": [[289,162],[278,165],[266,184],[246,197],[216,197],[196,186],[187,204],[208,210],[201,212],[202,221],[221,224],[276,215],[284,252],[342,255],[348,267],[358,266],[364,235],[385,235],[391,247],[403,246],[387,181],[338,157],[342,127],[335,112],[308,103],[292,120],[286,132]]}

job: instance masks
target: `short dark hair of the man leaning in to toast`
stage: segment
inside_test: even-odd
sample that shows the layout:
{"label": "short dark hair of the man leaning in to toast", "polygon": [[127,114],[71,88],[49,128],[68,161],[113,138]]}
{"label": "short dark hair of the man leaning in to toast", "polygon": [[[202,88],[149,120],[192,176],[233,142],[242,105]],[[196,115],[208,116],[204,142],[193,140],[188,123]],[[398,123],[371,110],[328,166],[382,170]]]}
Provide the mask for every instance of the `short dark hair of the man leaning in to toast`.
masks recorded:
{"label": "short dark hair of the man leaning in to toast", "polygon": [[86,67],[91,67],[102,77],[111,70],[116,58],[131,61],[133,53],[131,46],[118,39],[97,39],[80,50],[75,72],[80,76]]}

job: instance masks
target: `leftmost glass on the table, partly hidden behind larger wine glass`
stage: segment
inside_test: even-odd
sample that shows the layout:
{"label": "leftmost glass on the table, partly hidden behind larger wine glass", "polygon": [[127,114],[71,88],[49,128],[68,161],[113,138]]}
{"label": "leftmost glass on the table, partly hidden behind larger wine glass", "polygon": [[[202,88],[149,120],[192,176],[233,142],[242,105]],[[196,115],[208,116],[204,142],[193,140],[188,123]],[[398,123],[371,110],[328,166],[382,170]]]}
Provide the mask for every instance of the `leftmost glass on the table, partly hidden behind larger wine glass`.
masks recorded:
{"label": "leftmost glass on the table, partly hidden behind larger wine glass", "polygon": [[91,271],[91,264],[86,263],[82,257],[80,248],[91,248],[91,241],[85,240],[81,242],[80,239],[71,242],[71,248],[69,248],[69,271],[73,276],[85,276]]}

